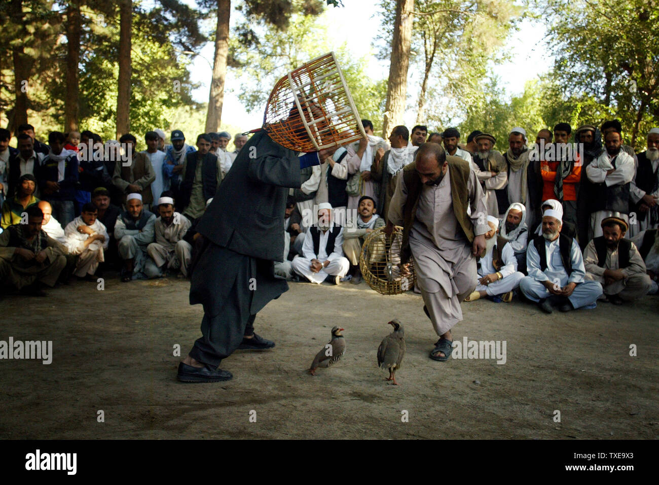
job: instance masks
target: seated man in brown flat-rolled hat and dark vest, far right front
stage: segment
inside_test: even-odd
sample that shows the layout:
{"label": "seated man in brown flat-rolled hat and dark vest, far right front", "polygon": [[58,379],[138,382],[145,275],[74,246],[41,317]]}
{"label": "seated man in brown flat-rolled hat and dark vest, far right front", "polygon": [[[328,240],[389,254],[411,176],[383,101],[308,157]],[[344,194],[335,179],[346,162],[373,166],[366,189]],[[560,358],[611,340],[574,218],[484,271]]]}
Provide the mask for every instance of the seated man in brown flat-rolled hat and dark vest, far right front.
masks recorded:
{"label": "seated man in brown flat-rolled hat and dark vest, far right front", "polygon": [[603,236],[583,251],[586,279],[600,282],[604,298],[614,305],[632,302],[650,289],[650,276],[636,245],[625,239],[627,221],[615,212],[602,220]]}

